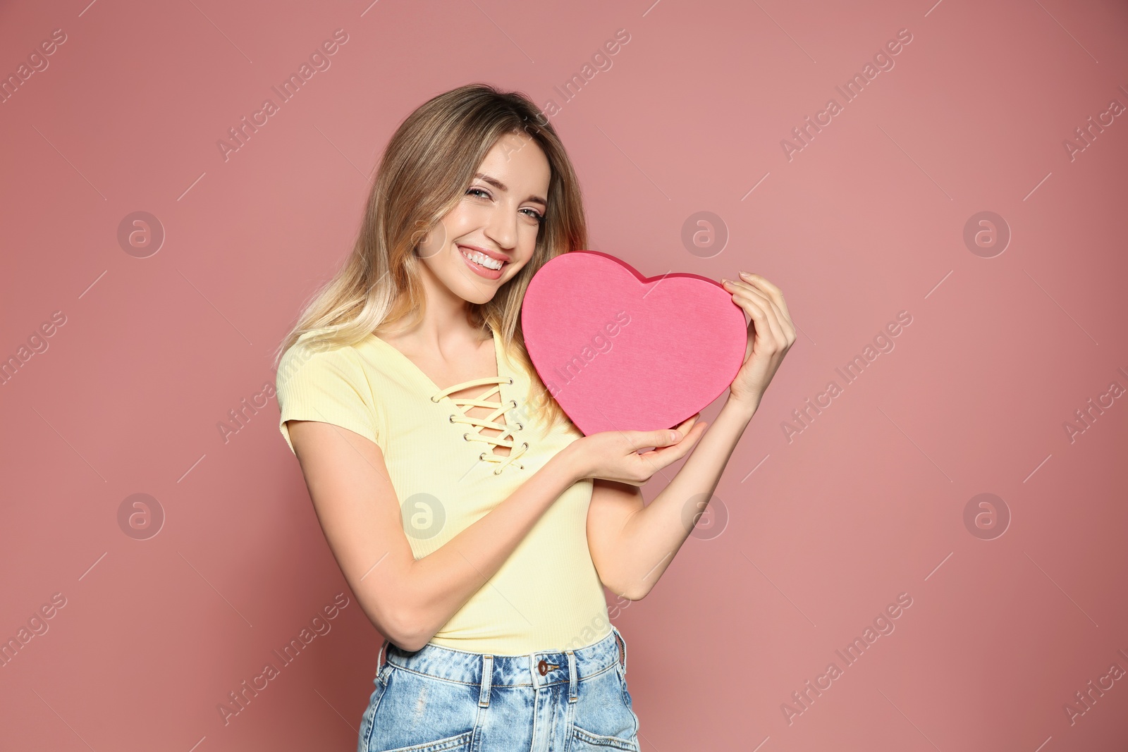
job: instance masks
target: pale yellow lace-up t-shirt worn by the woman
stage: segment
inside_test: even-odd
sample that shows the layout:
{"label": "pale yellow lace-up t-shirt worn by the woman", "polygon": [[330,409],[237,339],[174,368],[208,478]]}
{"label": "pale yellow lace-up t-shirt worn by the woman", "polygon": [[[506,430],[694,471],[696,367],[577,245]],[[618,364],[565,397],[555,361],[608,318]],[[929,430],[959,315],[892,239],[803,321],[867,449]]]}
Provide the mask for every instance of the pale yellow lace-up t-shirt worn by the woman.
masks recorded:
{"label": "pale yellow lace-up t-shirt worn by the woman", "polygon": [[[306,346],[310,336],[302,335],[279,362],[282,435],[293,451],[285,422],[320,421],[376,442],[416,559],[479,520],[583,435],[569,422],[546,433],[547,424],[527,404],[529,374],[506,357],[497,331],[493,339],[499,377],[444,390],[376,335],[329,350]],[[462,404],[469,399],[447,396],[472,384],[482,387],[476,398],[495,407],[492,413],[504,409],[504,423],[513,433],[492,439],[513,441],[509,457],[495,453],[495,443],[479,431],[476,423],[488,418],[466,415]],[[493,396],[497,390],[500,405]],[[588,549],[590,502],[590,478],[565,490],[431,643],[523,655],[578,649],[606,637],[607,601]]]}

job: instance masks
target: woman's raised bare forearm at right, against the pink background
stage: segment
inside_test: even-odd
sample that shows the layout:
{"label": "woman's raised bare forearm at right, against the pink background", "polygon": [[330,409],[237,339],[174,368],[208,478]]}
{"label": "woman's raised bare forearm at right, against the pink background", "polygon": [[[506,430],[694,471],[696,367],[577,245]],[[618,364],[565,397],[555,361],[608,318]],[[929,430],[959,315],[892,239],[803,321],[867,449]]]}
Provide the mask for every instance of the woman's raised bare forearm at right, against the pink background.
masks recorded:
{"label": "woman's raised bare forearm at right, against the pink background", "polygon": [[617,547],[620,570],[616,580],[623,583],[627,598],[644,598],[673,560],[693,530],[693,515],[713,497],[721,474],[758,406],[758,402],[746,405],[726,399],[673,480],[624,524]]}

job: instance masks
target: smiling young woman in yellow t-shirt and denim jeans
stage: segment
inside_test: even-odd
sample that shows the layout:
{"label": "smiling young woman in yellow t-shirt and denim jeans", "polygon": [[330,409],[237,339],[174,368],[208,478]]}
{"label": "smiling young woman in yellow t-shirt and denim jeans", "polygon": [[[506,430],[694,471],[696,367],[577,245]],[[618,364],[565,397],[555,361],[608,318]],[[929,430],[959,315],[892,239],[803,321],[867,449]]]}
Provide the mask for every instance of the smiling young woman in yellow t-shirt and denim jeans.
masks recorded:
{"label": "smiling young woman in yellow t-shirt and denim jeans", "polygon": [[[520,310],[537,269],[587,241],[536,106],[453,89],[393,135],[352,255],[280,347],[282,435],[386,637],[359,752],[638,749],[603,586],[654,586],[795,334],[779,290],[741,273],[724,284],[751,319],[746,362],[712,430],[583,436]],[[695,444],[644,506],[638,487]]]}

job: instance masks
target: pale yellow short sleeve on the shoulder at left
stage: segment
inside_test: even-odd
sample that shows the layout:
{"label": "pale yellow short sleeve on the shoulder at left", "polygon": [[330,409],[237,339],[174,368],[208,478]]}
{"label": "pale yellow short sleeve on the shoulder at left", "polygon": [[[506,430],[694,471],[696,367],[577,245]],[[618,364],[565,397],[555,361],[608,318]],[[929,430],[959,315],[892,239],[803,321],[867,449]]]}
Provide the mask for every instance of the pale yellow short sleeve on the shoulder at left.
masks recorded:
{"label": "pale yellow short sleeve on the shoulder at left", "polygon": [[332,423],[379,443],[372,390],[351,347],[323,350],[299,339],[279,361],[275,388],[279,430],[291,452],[287,421]]}

